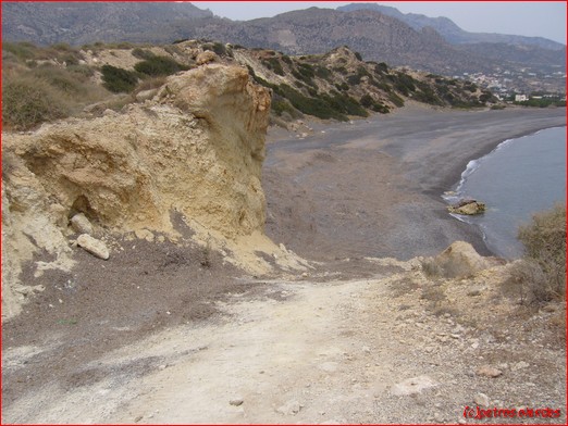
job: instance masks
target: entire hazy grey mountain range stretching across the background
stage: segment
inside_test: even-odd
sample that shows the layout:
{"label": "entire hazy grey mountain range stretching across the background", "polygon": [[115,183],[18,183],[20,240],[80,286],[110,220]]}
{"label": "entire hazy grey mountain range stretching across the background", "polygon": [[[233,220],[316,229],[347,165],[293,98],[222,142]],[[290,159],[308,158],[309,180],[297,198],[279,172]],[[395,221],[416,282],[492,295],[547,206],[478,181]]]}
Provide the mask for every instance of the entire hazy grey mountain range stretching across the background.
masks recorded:
{"label": "entire hazy grey mountain range stretching across the background", "polygon": [[468,33],[446,17],[354,3],[274,17],[231,21],[190,3],[2,3],[2,38],[40,45],[96,41],[168,43],[211,39],[287,54],[349,46],[366,60],[443,75],[530,67],[566,70],[566,47],[538,37]]}

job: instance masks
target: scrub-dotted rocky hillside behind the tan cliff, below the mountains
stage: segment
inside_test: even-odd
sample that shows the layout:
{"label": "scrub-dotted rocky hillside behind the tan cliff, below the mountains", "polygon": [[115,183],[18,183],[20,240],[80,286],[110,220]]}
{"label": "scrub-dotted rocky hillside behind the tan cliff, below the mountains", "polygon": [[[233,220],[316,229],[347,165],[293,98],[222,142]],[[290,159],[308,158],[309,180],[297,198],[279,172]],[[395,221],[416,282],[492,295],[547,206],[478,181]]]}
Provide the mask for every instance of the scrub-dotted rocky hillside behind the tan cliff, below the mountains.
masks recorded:
{"label": "scrub-dotted rocky hillside behind the tan cliff, below the mountains", "polygon": [[346,47],[291,57],[200,40],[162,47],[96,43],[83,49],[4,43],[3,57],[2,117],[12,129],[69,115],[100,115],[106,109],[119,111],[151,97],[166,75],[203,63],[248,71],[256,83],[271,90],[272,123],[282,126],[304,115],[346,121],[388,113],[408,99],[458,108],[496,101],[474,84],[366,62]]}

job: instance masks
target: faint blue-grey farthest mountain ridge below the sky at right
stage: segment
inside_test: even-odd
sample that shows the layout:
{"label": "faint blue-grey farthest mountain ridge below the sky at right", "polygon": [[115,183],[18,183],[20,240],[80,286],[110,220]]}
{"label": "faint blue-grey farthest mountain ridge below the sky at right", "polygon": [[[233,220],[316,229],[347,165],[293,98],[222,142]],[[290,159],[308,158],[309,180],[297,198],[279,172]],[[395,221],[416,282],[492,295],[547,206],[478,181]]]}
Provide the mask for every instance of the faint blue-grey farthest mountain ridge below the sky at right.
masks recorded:
{"label": "faint blue-grey farthest mountain ridge below the sky at right", "polygon": [[384,13],[385,15],[396,17],[397,20],[404,22],[405,24],[409,25],[410,27],[417,30],[420,30],[429,26],[434,28],[442,37],[446,39],[446,41],[448,41],[452,45],[478,42],[508,43],[534,46],[550,50],[561,50],[566,47],[563,43],[550,40],[544,37],[527,37],[493,33],[469,33],[465,29],[461,29],[458,25],[456,25],[452,20],[447,17],[430,17],[417,13],[402,13],[398,9],[390,5],[382,5],[375,3],[351,3],[338,7],[336,10],[341,12],[370,10]]}

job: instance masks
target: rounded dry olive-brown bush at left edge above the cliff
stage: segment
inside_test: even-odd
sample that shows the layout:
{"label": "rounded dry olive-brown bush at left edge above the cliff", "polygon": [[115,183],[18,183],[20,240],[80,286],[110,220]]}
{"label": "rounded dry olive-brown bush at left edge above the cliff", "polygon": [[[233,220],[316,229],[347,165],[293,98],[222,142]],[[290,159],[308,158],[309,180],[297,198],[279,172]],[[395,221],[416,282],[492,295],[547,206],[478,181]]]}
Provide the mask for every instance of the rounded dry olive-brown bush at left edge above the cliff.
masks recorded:
{"label": "rounded dry olive-brown bush at left edge above the cliff", "polygon": [[2,78],[2,122],[7,128],[27,130],[69,112],[66,100],[49,83],[28,75]]}

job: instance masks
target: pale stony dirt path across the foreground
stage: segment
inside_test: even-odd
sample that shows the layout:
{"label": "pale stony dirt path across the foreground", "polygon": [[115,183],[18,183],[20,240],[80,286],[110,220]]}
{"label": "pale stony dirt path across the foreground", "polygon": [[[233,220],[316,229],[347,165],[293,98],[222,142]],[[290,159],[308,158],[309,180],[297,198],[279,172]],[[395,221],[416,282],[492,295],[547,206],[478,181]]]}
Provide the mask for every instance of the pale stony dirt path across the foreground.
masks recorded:
{"label": "pale stony dirt path across the foreground", "polygon": [[[90,381],[27,393],[4,406],[4,421],[455,424],[465,406],[484,404],[561,409],[544,421],[565,419],[563,328],[553,325],[564,312],[522,317],[495,285],[498,272],[432,284],[417,262],[391,267],[399,273],[264,281],[257,297],[217,302],[215,321],[85,363],[75,374]],[[4,362],[25,368],[47,349],[9,350]],[[480,374],[485,364],[501,375]],[[509,422],[519,418],[495,419]]]}

